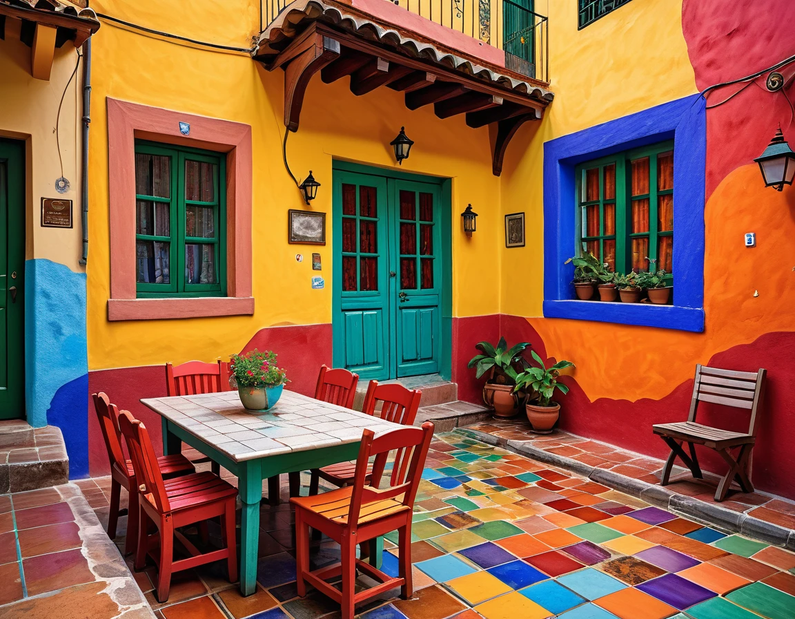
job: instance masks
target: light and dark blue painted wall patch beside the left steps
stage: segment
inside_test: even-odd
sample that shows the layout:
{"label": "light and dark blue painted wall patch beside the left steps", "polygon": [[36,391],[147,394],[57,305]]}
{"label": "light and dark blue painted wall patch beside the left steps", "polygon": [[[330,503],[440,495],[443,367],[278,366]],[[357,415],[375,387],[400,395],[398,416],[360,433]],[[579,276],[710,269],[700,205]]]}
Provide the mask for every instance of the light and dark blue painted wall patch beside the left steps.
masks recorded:
{"label": "light and dark blue painted wall patch beside the left steps", "polygon": [[86,275],[25,262],[25,408],[31,426],[60,427],[69,476],[88,474]]}

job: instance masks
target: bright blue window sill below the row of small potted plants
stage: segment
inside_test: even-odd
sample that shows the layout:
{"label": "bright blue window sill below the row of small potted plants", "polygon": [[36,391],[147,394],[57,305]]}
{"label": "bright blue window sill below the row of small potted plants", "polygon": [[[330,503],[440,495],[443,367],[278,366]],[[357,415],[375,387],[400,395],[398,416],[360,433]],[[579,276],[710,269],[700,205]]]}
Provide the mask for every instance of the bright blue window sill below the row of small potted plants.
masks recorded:
{"label": "bright blue window sill below the row of small potted plants", "polygon": [[545,301],[544,316],[570,318],[619,325],[639,325],[704,332],[704,309],[700,307],[655,306],[648,303],[603,301]]}

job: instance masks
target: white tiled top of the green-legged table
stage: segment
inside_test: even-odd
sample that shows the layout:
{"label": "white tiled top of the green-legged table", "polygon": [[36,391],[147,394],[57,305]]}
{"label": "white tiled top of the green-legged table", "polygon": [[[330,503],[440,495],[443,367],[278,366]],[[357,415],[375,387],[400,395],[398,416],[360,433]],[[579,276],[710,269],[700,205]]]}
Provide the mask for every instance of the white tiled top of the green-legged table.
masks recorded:
{"label": "white tiled top of the green-legged table", "polygon": [[286,389],[262,415],[246,411],[237,391],[141,403],[236,462],[359,442],[364,430],[381,434],[402,427]]}

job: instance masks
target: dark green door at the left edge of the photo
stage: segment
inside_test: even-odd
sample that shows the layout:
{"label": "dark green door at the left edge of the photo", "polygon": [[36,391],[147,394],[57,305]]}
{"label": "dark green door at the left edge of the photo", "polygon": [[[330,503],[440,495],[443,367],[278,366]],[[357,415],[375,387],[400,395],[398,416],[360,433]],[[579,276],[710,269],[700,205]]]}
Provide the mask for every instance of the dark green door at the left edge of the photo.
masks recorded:
{"label": "dark green door at the left edge of the photo", "polygon": [[0,419],[25,417],[25,142],[0,139]]}

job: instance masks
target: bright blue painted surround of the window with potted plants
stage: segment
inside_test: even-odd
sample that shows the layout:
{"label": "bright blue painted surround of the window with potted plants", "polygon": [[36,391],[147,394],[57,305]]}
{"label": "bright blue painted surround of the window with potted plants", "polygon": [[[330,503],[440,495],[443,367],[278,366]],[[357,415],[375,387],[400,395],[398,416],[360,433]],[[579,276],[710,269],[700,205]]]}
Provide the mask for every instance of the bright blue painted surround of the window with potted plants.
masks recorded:
{"label": "bright blue painted surround of the window with potted plants", "polygon": [[[673,138],[673,306],[574,300],[575,166]],[[544,316],[704,331],[706,104],[663,103],[544,145]],[[677,242],[679,239],[679,242]]]}

